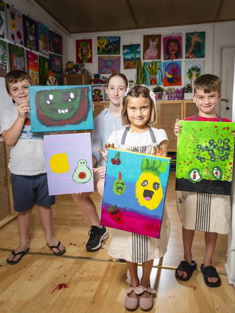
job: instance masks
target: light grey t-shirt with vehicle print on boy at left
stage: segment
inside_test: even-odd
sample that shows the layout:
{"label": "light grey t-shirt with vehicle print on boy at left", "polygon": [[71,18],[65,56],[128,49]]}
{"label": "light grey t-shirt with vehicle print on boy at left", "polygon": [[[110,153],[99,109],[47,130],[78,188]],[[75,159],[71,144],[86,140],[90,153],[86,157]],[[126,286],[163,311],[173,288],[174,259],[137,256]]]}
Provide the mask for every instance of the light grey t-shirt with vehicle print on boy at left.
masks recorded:
{"label": "light grey t-shirt with vehicle print on boy at left", "polygon": [[[2,111],[0,134],[7,131],[18,117],[17,106]],[[16,175],[38,175],[46,173],[46,160],[43,132],[31,133],[30,118],[24,121],[20,137],[14,146],[11,146],[10,172]]]}

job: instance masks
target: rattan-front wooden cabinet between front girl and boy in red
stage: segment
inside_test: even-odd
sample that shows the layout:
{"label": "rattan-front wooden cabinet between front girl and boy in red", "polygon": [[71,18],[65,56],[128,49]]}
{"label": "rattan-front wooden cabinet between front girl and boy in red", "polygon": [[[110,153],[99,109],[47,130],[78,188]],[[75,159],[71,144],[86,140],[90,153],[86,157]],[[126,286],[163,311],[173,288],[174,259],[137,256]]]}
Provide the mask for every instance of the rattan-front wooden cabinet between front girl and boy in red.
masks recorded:
{"label": "rattan-front wooden cabinet between front girl and boy in red", "polygon": [[158,128],[166,131],[169,141],[168,151],[177,150],[177,141],[174,134],[176,119],[183,120],[197,113],[198,108],[193,100],[158,101]]}

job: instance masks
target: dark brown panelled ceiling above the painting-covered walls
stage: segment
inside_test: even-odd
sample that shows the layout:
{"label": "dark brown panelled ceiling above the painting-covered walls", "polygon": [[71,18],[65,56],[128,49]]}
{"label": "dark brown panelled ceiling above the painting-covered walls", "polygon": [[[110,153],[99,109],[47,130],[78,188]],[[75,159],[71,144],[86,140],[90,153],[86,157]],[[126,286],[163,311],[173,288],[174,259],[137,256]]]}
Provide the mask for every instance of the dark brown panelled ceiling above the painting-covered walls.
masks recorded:
{"label": "dark brown panelled ceiling above the painting-covered walls", "polygon": [[69,33],[235,20],[234,0],[35,0]]}

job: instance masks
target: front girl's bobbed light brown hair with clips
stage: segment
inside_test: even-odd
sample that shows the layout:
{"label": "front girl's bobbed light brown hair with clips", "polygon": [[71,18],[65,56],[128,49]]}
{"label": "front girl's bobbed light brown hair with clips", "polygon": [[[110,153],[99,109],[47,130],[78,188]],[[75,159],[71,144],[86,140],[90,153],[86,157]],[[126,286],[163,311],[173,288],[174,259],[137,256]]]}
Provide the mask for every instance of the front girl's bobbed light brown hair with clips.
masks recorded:
{"label": "front girl's bobbed light brown hair with clips", "polygon": [[128,99],[130,97],[138,98],[148,98],[150,101],[150,116],[149,120],[147,122],[147,126],[152,126],[156,122],[157,118],[157,112],[154,105],[154,101],[150,98],[150,90],[146,85],[135,85],[131,87],[130,91],[128,92],[126,97],[123,97],[122,100],[122,111],[121,111],[121,118],[123,126],[130,125],[130,121],[128,120],[127,116],[127,105],[128,105]]}

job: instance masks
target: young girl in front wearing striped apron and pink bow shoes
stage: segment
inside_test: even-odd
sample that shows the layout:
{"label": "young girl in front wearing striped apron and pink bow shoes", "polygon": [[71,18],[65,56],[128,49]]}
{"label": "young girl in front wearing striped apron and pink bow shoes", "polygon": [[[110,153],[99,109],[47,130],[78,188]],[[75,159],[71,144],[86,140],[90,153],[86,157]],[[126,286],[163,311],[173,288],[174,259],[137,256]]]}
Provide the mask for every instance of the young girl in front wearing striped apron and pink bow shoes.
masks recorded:
{"label": "young girl in front wearing striped apron and pink bow shoes", "polygon": [[[146,154],[156,154],[155,148],[160,145],[163,155],[167,149],[168,139],[163,129],[151,127],[156,121],[155,95],[145,85],[133,86],[124,94],[121,117],[122,130],[114,131],[108,138],[108,145],[121,150],[130,150]],[[101,154],[106,157],[106,152]],[[103,179],[104,180],[104,179]],[[112,239],[108,254],[117,259],[127,261],[131,277],[131,285],[126,291],[124,305],[128,310],[135,310],[138,305],[142,310],[149,310],[153,306],[150,288],[150,273],[154,259],[161,258],[167,250],[170,234],[170,221],[164,208],[160,239],[155,239],[123,230],[112,229]],[[137,265],[142,263],[143,274],[139,281]]]}

